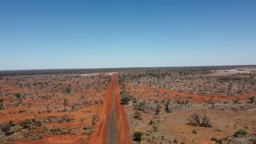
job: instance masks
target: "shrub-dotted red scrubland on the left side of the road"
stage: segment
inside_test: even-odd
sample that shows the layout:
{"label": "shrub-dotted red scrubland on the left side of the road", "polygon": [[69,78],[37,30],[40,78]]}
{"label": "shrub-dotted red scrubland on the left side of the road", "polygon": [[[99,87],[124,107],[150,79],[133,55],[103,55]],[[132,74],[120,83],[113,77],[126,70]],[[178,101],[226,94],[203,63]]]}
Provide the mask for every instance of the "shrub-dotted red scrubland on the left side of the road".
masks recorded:
{"label": "shrub-dotted red scrubland on the left side of the road", "polygon": [[0,77],[0,143],[86,143],[109,75]]}

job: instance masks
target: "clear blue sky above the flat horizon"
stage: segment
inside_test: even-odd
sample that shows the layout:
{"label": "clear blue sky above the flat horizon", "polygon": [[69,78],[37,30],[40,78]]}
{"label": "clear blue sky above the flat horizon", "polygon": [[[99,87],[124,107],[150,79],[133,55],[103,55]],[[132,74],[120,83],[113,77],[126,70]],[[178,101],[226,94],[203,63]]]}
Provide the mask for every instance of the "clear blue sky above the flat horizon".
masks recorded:
{"label": "clear blue sky above the flat horizon", "polygon": [[256,1],[0,1],[0,69],[256,64]]}

